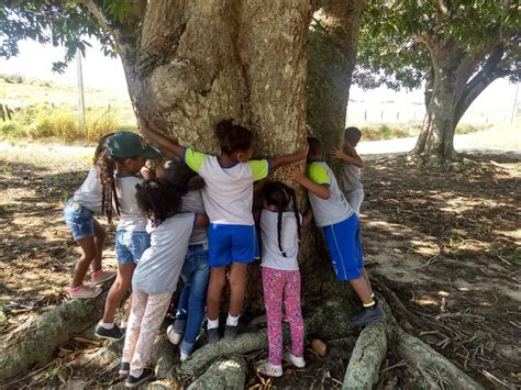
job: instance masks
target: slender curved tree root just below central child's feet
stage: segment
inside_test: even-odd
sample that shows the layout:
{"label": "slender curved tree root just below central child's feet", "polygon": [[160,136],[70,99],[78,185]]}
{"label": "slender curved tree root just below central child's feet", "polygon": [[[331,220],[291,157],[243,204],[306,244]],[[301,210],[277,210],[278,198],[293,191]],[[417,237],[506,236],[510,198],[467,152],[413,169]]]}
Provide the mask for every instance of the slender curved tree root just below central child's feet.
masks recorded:
{"label": "slender curved tree root just below central child's feet", "polygon": [[190,377],[196,376],[222,356],[247,354],[266,348],[267,343],[266,330],[262,330],[255,333],[240,334],[232,341],[221,339],[219,343],[207,344],[202,348],[197,349],[188,360],[182,363],[181,374]]}

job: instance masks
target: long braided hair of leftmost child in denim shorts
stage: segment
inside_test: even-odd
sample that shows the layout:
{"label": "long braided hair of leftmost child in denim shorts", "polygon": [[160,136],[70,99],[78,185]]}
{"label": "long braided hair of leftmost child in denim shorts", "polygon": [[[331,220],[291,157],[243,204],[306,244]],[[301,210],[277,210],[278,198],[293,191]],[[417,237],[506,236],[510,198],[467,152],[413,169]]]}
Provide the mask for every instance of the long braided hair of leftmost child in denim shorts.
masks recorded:
{"label": "long braided hair of leftmost child in denim shorts", "polygon": [[101,215],[107,215],[109,223],[112,222],[112,202],[115,212],[120,215],[120,200],[115,192],[115,158],[106,149],[101,152],[95,161],[98,177],[101,181]]}

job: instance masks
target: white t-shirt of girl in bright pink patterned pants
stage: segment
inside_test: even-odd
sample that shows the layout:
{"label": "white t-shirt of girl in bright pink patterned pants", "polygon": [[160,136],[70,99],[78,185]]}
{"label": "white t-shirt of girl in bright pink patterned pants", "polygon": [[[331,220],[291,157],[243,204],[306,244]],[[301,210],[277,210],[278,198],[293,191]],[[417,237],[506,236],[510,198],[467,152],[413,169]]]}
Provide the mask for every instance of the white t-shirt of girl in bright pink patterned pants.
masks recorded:
{"label": "white t-shirt of girl in bright pink patterned pants", "polygon": [[[302,223],[302,215],[299,214],[299,218]],[[277,222],[278,212],[269,210],[260,212],[260,245],[263,248],[260,266],[288,271],[298,270],[299,235],[295,213],[291,211],[282,213],[280,244],[286,257],[278,246]]]}

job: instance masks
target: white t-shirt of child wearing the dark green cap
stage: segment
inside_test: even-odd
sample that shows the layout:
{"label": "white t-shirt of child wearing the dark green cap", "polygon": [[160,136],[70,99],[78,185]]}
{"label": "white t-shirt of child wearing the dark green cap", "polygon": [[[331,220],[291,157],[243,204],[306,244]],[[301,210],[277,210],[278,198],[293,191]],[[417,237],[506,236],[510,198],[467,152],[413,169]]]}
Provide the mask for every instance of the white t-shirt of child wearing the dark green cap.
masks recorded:
{"label": "white t-shirt of child wearing the dark green cap", "polygon": [[117,176],[115,192],[120,201],[120,222],[118,231],[145,232],[146,216],[137,207],[135,185],[141,185],[143,179],[137,176]]}

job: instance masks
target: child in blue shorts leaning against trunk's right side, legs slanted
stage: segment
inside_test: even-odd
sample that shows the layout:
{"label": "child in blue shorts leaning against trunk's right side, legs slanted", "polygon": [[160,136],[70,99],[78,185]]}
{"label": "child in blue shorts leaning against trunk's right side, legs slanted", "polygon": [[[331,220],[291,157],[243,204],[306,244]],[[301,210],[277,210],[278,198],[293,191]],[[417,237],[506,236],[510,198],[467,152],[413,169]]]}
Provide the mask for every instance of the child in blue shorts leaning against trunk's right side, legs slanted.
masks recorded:
{"label": "child in blue shorts leaning against trunk's right side, legs slanted", "polygon": [[369,277],[364,268],[358,216],[340,190],[333,171],[322,160],[320,141],[310,137],[308,144],[306,175],[296,169],[287,176],[308,190],[314,222],[323,229],[336,278],[348,280],[363,303],[362,311],[351,320],[352,325],[364,326],[384,321],[386,314],[374,300]]}

